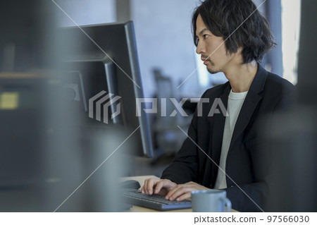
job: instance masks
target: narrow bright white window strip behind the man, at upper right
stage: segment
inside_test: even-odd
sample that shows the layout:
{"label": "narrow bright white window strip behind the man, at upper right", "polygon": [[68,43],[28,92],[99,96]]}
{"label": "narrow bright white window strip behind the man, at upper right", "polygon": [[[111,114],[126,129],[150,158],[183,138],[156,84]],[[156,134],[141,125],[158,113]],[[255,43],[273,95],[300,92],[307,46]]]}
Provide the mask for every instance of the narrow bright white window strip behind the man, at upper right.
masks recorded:
{"label": "narrow bright white window strip behind the man, at upper right", "polygon": [[301,0],[281,0],[283,78],[297,84]]}

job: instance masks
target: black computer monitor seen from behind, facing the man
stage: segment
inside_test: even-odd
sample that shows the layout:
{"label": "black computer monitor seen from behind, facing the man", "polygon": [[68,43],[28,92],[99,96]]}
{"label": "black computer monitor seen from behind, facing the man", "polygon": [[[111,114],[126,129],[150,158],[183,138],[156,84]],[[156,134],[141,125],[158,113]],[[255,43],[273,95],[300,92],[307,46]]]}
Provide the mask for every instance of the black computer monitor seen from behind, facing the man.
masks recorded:
{"label": "black computer monitor seen from behind, facing the man", "polygon": [[[136,114],[143,97],[132,21],[61,28],[64,83],[80,107],[84,128],[137,129],[131,140],[138,156],[153,156],[147,114]],[[66,44],[65,44],[66,43]]]}

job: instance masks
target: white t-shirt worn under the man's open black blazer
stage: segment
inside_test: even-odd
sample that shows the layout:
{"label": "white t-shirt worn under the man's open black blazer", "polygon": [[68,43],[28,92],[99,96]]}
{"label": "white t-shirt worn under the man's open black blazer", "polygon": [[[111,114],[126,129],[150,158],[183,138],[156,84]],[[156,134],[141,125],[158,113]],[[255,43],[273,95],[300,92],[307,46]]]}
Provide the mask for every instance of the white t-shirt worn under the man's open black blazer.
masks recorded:
{"label": "white t-shirt worn under the man's open black blazer", "polygon": [[218,175],[216,178],[215,189],[227,188],[227,182],[225,181],[225,162],[227,159],[228,150],[232,138],[233,130],[235,129],[235,123],[240,113],[240,109],[244,102],[248,92],[235,93],[230,90],[228,97],[228,114],[225,118],[225,129],[223,130],[223,145],[221,147],[220,164],[218,169]]}

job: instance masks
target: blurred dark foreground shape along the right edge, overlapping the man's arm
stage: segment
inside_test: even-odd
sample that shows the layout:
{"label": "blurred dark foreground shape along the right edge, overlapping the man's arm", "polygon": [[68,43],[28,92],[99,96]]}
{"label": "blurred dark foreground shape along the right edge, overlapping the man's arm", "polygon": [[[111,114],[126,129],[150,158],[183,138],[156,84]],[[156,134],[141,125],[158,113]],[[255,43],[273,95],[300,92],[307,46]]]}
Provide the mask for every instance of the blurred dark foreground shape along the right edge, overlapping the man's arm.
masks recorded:
{"label": "blurred dark foreground shape along the right edge, overlapping the man's arm", "polygon": [[317,1],[302,1],[297,104],[275,118],[266,135],[266,163],[273,165],[268,212],[317,212]]}

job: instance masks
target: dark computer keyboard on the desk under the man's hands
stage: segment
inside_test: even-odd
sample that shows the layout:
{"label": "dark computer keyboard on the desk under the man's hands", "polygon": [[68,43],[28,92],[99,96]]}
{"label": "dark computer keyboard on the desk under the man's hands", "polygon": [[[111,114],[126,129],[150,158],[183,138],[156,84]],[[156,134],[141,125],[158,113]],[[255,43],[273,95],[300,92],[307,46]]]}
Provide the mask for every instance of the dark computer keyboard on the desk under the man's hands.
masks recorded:
{"label": "dark computer keyboard on the desk under the man's hands", "polygon": [[149,209],[156,209],[159,211],[174,210],[174,209],[188,209],[192,207],[192,202],[189,200],[170,201],[166,200],[163,195],[146,195],[142,194],[141,190],[132,190],[122,193],[123,202],[146,207]]}

